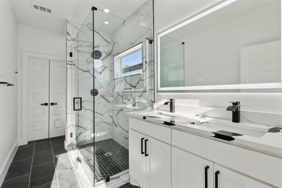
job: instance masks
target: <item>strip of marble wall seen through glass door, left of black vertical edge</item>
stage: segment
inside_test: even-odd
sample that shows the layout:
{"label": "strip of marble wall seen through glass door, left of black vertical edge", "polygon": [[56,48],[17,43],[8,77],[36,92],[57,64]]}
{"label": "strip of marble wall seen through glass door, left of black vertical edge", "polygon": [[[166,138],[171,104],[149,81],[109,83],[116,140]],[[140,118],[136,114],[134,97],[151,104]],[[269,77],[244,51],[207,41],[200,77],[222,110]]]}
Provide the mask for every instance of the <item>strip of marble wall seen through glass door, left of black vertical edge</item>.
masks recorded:
{"label": "strip of marble wall seen through glass door, left of black vertical edge", "polygon": [[[94,97],[91,95],[94,81],[93,58],[93,24],[92,12],[86,18],[77,34],[77,48],[74,49],[75,56],[77,54],[77,62],[75,68],[77,70],[77,96],[82,99],[82,110],[75,111],[76,144],[88,144],[94,142]],[[75,45],[76,47],[76,45]]]}

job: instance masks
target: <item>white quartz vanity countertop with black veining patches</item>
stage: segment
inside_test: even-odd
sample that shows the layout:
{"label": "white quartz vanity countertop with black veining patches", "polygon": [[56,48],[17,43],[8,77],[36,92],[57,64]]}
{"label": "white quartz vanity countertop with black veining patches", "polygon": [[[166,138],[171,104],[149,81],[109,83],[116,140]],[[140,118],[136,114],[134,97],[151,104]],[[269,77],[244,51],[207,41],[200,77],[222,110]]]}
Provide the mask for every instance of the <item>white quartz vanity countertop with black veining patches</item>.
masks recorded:
{"label": "white quartz vanity countertop with black veining patches", "polygon": [[253,123],[233,123],[228,120],[161,110],[127,112],[127,115],[282,158],[282,128]]}

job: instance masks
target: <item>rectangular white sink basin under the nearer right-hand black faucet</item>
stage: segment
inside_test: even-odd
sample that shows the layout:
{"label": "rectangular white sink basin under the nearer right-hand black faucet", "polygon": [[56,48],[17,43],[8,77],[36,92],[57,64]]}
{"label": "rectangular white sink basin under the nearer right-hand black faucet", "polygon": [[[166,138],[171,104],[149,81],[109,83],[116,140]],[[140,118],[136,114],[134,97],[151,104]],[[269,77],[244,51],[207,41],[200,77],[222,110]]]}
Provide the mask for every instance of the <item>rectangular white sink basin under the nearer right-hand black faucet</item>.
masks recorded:
{"label": "rectangular white sink basin under the nearer right-hand black faucet", "polygon": [[268,128],[251,126],[249,123],[232,123],[221,121],[204,122],[199,124],[199,126],[218,129],[218,133],[228,136],[247,135],[256,138],[261,138],[269,130]]}

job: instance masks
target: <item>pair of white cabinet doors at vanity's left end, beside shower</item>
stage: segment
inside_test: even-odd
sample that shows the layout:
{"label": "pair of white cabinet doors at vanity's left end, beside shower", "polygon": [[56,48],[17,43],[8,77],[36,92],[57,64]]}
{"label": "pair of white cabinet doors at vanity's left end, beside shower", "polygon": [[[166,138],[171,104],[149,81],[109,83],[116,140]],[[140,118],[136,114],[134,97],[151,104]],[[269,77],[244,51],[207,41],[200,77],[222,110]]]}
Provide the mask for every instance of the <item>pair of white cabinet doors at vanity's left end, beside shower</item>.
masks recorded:
{"label": "pair of white cabinet doors at vanity's left end, beside shower", "polygon": [[142,188],[171,188],[171,145],[129,129],[129,174]]}

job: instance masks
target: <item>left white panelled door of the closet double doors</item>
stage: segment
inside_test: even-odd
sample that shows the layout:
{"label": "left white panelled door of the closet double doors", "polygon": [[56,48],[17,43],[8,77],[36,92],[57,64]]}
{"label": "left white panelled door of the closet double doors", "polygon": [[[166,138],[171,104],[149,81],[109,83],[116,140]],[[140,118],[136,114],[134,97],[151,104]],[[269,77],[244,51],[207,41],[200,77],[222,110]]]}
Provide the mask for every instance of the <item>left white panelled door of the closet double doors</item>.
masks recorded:
{"label": "left white panelled door of the closet double doors", "polygon": [[49,60],[28,58],[28,141],[48,137]]}

